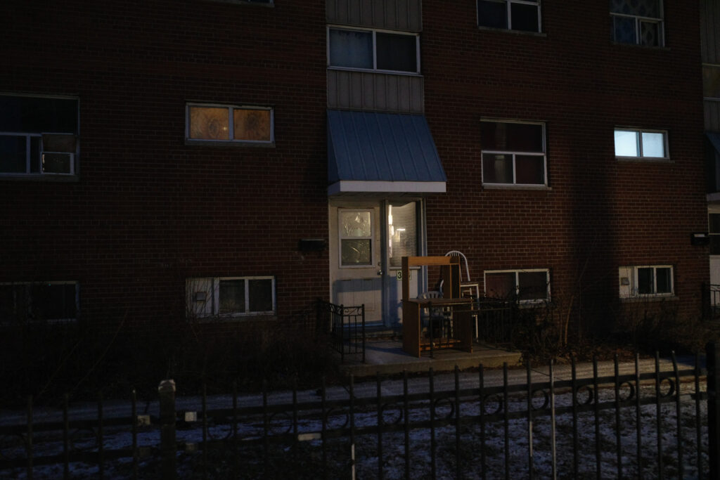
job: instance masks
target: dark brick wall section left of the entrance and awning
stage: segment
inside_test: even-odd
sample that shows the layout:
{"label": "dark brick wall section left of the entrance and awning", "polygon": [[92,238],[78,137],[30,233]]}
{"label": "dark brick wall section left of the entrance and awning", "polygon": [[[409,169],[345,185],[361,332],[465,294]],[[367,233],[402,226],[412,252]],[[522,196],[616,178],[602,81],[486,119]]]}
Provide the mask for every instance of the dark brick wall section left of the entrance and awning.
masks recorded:
{"label": "dark brick wall section left of the entrance and awning", "polygon": [[[328,291],[319,2],[11,1],[0,91],[80,101],[74,183],[0,180],[0,281],[81,283],[86,320],[184,316],[185,279],[276,276],[278,313]],[[274,148],[184,144],[186,101],[274,107]]]}

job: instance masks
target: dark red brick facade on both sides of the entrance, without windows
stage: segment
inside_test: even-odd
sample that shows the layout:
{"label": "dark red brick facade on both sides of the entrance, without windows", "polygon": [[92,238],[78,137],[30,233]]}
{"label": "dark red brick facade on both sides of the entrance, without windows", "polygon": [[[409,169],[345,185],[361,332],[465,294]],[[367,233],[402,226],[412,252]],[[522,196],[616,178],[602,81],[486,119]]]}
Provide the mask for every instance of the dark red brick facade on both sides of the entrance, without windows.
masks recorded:
{"label": "dark red brick facade on both sides of the entrance, without windows", "polygon": [[[0,282],[75,280],[81,318],[184,317],[185,281],[276,279],[278,317],[328,298],[325,2],[5,1],[0,92],[75,96],[76,181],[0,177]],[[616,45],[606,2],[547,1],[541,34],[479,30],[474,1],[423,2],[425,112],[448,178],[428,253],[549,268],[618,305],[618,266],[670,264],[683,314],[708,280],[698,7],[666,47]],[[274,108],[275,145],[187,145],[188,101]],[[0,112],[1,114],[1,112]],[[483,189],[482,118],[544,122],[549,189]],[[618,162],[613,127],[667,130],[671,162]]]}

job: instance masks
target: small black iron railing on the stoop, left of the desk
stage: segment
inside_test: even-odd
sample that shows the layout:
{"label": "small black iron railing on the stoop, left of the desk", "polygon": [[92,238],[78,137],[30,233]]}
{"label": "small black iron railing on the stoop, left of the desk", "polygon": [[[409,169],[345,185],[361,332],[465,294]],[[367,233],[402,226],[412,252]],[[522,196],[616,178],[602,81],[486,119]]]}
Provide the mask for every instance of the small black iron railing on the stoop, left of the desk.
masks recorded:
{"label": "small black iron railing on the stoop, left of the desk", "polygon": [[318,299],[317,325],[320,332],[330,336],[330,343],[340,353],[359,356],[365,361],[365,305],[345,307]]}

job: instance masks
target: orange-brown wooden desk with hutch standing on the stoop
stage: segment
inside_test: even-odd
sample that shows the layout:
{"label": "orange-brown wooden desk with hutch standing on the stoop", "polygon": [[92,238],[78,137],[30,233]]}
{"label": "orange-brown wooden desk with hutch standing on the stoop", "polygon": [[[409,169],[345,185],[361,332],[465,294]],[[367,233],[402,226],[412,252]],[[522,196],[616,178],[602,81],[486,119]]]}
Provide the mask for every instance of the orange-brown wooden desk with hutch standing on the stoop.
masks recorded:
{"label": "orange-brown wooden desk with hutch standing on the stoop", "polygon": [[[453,322],[453,336],[442,342],[444,348],[459,348],[472,352],[472,299],[460,295],[460,258],[402,257],[402,350],[420,357],[426,350],[436,348],[432,332],[429,339],[423,338],[420,313],[423,308],[449,308]],[[410,299],[410,267],[441,266],[443,276],[443,298]],[[439,344],[438,344],[439,346]]]}

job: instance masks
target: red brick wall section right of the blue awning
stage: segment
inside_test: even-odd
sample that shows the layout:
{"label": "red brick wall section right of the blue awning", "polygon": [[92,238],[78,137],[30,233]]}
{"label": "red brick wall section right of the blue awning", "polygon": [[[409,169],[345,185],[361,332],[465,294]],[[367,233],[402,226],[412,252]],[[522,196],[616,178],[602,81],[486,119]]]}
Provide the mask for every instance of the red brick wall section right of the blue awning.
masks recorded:
{"label": "red brick wall section right of the blue awning", "polygon": [[[462,250],[480,280],[551,268],[554,299],[578,302],[581,286],[593,321],[618,311],[618,266],[669,263],[681,314],[699,314],[698,11],[665,6],[667,47],[652,48],[614,45],[603,2],[544,2],[540,35],[478,30],[472,1],[424,2],[426,114],[448,175],[448,194],[428,200],[429,253]],[[482,189],[485,117],[546,123],[550,189]],[[618,162],[615,126],[667,130],[672,163]]]}

